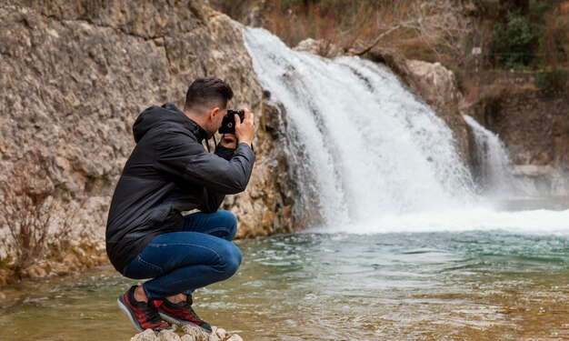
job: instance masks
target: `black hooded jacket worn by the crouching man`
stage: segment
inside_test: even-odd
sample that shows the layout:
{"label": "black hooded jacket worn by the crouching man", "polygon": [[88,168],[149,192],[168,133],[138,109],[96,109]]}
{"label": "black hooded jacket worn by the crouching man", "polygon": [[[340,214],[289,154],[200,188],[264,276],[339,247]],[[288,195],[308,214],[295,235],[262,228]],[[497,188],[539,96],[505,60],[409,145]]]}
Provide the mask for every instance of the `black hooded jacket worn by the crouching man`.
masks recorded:
{"label": "black hooded jacket worn by the crouching man", "polygon": [[243,192],[255,160],[246,144],[206,152],[207,132],[170,103],[146,109],[133,131],[106,223],[106,253],[121,273],[155,236],[182,229],[182,211],[215,212]]}

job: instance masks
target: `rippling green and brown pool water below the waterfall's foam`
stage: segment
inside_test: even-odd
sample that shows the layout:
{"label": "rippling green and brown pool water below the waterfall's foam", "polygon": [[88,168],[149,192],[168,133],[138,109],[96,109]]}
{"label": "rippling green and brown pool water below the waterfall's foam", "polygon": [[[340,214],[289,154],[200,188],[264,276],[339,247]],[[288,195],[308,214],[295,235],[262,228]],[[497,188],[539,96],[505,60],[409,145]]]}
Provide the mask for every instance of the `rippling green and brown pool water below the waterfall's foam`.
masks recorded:
{"label": "rippling green and brown pool water below the waterfall's foam", "polygon": [[[245,340],[566,339],[569,237],[503,231],[303,233],[238,241],[231,279],[195,293]],[[128,340],[115,300],[136,283],[100,266],[4,290],[2,340]]]}

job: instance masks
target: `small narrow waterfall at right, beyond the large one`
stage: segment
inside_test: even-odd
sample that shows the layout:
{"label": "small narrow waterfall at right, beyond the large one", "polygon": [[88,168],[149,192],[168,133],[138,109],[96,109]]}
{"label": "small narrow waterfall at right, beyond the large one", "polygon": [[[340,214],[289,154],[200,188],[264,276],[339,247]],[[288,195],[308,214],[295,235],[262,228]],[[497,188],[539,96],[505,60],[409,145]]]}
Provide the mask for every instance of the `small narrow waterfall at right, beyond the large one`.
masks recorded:
{"label": "small narrow waterfall at right, beyond the large one", "polygon": [[510,156],[498,135],[478,124],[473,117],[463,115],[473,131],[476,144],[475,174],[486,195],[497,197],[514,196],[514,177]]}

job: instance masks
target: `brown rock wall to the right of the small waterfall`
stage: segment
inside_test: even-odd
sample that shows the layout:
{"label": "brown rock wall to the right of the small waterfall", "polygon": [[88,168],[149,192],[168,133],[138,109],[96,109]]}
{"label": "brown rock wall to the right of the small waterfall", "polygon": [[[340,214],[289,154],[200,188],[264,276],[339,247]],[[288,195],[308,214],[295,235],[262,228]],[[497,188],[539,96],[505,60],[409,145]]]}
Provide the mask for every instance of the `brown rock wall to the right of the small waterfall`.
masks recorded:
{"label": "brown rock wall to the right of the small waterfall", "polygon": [[491,75],[470,111],[504,141],[514,175],[533,180],[542,195],[569,196],[569,93],[539,90],[534,77]]}

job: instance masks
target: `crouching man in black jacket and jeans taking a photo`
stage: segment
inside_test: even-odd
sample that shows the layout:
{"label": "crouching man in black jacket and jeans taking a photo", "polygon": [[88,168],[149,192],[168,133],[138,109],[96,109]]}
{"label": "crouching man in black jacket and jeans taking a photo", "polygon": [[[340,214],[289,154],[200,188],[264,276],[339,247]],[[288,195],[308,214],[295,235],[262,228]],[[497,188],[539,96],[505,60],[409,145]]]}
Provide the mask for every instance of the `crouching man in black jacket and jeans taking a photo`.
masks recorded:
{"label": "crouching man in black jacket and jeans taking a photo", "polygon": [[[222,125],[233,95],[219,78],[198,78],[184,112],[170,103],[151,106],[133,126],[136,146],[111,202],[106,252],[124,276],[152,278],[118,298],[139,331],[160,331],[166,321],[211,332],[192,308],[192,292],[233,276],[241,264],[231,242],[235,216],[217,209],[249,182],[253,114],[244,108],[243,123],[235,115],[235,135],[223,135],[215,154],[202,145]],[[182,216],[195,208],[200,212]]]}

